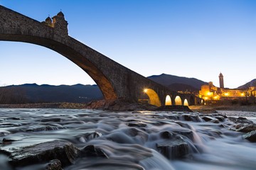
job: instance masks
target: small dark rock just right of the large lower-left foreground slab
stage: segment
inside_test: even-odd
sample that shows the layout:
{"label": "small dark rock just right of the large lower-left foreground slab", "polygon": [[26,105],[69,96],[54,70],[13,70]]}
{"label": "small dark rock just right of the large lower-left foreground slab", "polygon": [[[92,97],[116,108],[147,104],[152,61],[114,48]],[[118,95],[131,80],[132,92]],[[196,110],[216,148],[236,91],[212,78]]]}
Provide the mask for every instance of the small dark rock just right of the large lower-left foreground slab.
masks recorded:
{"label": "small dark rock just right of the large lower-left foreground slab", "polygon": [[107,158],[107,154],[100,149],[95,147],[94,145],[87,145],[83,149],[80,150],[81,157],[105,157]]}

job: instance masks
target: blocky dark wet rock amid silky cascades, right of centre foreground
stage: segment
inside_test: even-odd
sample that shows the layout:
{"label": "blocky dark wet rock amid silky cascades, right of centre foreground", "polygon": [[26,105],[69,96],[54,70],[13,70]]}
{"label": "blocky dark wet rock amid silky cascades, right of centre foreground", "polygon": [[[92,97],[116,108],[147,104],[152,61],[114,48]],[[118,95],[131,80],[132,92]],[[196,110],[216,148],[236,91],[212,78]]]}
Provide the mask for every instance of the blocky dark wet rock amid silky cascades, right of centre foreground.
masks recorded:
{"label": "blocky dark wet rock amid silky cascades, right of centre foreground", "polygon": [[181,137],[156,143],[156,147],[168,159],[176,159],[188,154],[188,144]]}

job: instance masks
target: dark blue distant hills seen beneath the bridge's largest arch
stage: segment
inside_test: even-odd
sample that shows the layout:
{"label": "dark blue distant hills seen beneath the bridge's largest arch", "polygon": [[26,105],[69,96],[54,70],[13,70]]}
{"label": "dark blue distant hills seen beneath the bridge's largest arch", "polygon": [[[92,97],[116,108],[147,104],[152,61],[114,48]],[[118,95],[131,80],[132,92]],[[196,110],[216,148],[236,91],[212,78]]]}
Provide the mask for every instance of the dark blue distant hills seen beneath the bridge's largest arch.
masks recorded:
{"label": "dark blue distant hills seen beneath the bridge's largest arch", "polygon": [[[75,84],[73,86],[51,86],[43,84],[22,84],[1,87],[1,91],[12,91],[18,98],[26,98],[28,102],[76,102],[85,103],[103,98],[97,85]],[[1,95],[1,93],[0,93]],[[1,96],[0,96],[1,98]]]}

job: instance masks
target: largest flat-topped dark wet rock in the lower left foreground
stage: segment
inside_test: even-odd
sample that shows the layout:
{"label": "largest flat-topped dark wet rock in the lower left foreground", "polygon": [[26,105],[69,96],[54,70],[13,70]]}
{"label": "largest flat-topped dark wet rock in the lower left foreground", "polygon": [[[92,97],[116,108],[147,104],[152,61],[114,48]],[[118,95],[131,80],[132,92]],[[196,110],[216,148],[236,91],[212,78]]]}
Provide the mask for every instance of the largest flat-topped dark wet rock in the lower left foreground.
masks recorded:
{"label": "largest flat-topped dark wet rock in the lower left foreground", "polygon": [[24,166],[39,162],[48,162],[59,159],[63,166],[73,164],[75,157],[78,156],[79,149],[70,142],[51,141],[37,145],[11,149],[9,163],[14,166]]}

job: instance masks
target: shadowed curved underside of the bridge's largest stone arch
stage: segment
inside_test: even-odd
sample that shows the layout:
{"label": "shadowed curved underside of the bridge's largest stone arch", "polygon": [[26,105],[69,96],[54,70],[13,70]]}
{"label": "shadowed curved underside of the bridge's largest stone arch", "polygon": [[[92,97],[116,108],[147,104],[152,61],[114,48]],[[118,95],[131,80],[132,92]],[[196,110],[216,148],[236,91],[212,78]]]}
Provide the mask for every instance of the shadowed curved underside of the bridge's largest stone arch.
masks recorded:
{"label": "shadowed curved underside of the bridge's largest stone arch", "polygon": [[95,83],[99,86],[102,94],[106,100],[117,99],[117,94],[114,91],[114,87],[107,79],[105,74],[92,64],[85,56],[81,55],[80,52],[73,50],[68,45],[55,40],[50,40],[48,38],[41,38],[31,35],[16,35],[16,34],[0,34],[0,40],[4,41],[16,41],[16,42],[28,42],[35,45],[41,45],[47,47],[50,50],[58,52],[60,55],[67,57],[69,60],[77,64],[81,69],[83,69]]}

